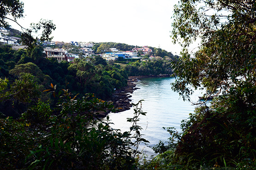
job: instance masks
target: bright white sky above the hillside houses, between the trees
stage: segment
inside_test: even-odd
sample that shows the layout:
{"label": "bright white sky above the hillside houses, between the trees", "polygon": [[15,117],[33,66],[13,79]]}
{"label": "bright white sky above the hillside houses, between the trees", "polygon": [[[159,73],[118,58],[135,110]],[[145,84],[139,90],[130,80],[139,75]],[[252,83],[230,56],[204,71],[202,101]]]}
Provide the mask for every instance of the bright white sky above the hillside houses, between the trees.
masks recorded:
{"label": "bright white sky above the hillside houses, between the trees", "polygon": [[173,6],[178,0],[22,1],[24,17],[18,23],[29,28],[40,19],[52,20],[56,25],[53,41],[117,42],[160,47],[173,54],[181,51],[170,37]]}

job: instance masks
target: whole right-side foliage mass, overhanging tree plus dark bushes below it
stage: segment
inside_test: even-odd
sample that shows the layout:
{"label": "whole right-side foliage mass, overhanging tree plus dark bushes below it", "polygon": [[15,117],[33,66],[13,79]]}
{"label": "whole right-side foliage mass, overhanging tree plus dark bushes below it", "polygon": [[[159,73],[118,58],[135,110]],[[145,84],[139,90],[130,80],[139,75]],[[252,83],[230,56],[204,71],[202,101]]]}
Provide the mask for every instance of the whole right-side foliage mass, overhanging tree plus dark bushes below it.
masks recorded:
{"label": "whole right-side foliage mass, overhanging tree plus dark bushes below it", "polygon": [[165,170],[256,169],[255,1],[180,0],[173,28],[173,40],[185,48],[202,41],[173,63],[173,90],[189,99],[193,88],[202,88],[214,100],[183,122],[174,149],[158,145],[163,152],[151,164]]}

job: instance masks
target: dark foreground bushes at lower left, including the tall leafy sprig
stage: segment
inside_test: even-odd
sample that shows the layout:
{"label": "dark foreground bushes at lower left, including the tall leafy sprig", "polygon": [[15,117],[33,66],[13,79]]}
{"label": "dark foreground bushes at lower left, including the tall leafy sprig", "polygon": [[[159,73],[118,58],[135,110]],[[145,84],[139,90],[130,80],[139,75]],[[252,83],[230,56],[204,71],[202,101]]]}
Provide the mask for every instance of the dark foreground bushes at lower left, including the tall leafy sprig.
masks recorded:
{"label": "dark foreground bushes at lower left, including the tall leafy sprig", "polygon": [[145,115],[140,102],[134,104],[134,117],[127,119],[130,130],[121,132],[110,127],[108,117],[106,121],[97,118],[100,112],[113,109],[110,102],[92,94],[76,99],[68,90],[55,89],[51,84],[47,91],[58,98],[56,107],[39,101],[19,119],[0,119],[2,169],[137,169],[137,146],[148,142],[137,125],[138,116]]}

